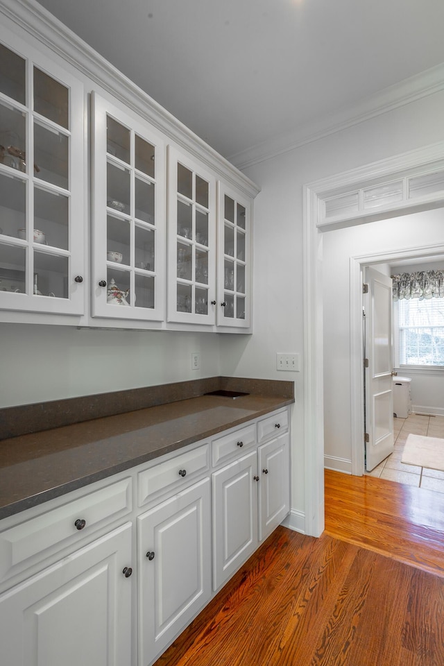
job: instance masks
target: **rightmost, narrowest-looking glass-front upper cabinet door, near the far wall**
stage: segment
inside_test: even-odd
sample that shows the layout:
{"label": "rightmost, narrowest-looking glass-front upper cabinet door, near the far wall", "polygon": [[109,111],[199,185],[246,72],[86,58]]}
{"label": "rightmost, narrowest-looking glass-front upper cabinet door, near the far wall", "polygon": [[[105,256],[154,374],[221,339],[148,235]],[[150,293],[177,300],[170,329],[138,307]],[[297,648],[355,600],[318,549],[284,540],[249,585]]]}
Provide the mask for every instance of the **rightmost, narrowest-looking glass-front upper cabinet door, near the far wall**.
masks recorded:
{"label": "rightmost, narrowest-looking glass-front upper cabinet door, near the far wall", "polygon": [[251,201],[218,182],[217,325],[250,326]]}

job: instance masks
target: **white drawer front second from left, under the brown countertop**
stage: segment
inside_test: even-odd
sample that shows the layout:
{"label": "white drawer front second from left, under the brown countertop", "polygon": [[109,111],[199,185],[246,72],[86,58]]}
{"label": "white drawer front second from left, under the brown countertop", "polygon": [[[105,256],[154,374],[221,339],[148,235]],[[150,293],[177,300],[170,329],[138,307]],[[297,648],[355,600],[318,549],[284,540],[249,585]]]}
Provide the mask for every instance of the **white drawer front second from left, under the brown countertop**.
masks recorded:
{"label": "white drawer front second from left, under the brown countertop", "polygon": [[139,472],[139,506],[167,490],[175,490],[209,467],[209,448],[205,444]]}

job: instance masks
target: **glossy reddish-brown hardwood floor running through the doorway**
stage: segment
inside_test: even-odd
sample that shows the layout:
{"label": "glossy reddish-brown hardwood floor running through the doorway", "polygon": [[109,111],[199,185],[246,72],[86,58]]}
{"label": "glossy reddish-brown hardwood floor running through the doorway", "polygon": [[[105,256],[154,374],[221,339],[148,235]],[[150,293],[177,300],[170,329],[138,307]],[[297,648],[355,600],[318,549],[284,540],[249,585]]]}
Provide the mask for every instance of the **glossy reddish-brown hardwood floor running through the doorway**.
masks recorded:
{"label": "glossy reddish-brown hardwood floor running through the doorway", "polygon": [[444,497],[326,472],[325,506],[321,538],[279,527],[156,666],[443,666]]}

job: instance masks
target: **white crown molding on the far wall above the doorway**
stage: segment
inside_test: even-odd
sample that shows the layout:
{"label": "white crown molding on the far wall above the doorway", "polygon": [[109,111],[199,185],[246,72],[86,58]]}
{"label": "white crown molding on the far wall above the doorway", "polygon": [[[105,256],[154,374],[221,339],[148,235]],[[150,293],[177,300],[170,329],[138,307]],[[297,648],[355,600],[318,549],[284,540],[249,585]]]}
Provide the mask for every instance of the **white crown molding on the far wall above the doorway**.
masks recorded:
{"label": "white crown molding on the far wall above the doorway", "polygon": [[228,157],[228,160],[238,169],[246,169],[441,92],[443,89],[444,63],[386,87],[351,107],[330,114],[328,119],[301,125],[291,132],[278,135],[271,141],[234,153]]}

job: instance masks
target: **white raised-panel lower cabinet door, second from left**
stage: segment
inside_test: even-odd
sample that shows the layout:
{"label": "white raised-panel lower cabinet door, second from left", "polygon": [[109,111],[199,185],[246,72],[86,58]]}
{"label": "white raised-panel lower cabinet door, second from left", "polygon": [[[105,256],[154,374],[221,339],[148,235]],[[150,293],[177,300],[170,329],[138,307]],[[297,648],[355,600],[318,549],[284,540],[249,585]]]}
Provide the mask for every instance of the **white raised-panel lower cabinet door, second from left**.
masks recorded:
{"label": "white raised-panel lower cabinet door, second from left", "polygon": [[210,479],[137,519],[139,666],[153,662],[211,596]]}

